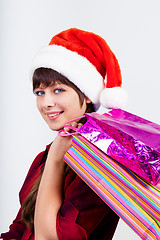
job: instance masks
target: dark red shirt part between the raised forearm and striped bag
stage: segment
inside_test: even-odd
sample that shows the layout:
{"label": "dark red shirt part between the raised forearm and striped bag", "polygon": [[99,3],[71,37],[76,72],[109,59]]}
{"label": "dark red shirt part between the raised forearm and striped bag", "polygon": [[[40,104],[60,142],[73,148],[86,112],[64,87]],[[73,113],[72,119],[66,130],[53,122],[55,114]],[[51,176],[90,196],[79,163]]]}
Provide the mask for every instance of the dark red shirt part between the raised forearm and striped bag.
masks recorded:
{"label": "dark red shirt part between the raised forearm and striped bag", "polygon": [[74,180],[67,182],[57,216],[59,240],[112,239],[118,216],[73,171],[70,175]]}

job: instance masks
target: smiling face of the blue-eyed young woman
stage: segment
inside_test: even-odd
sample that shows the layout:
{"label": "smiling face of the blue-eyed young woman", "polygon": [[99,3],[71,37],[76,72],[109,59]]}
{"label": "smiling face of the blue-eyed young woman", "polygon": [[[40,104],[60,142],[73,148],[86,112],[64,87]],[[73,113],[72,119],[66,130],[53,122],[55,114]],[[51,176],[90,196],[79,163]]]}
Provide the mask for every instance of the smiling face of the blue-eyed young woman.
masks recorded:
{"label": "smiling face of the blue-eyed young woman", "polygon": [[49,87],[42,84],[34,90],[37,108],[52,130],[60,130],[64,124],[82,116],[91,101],[85,98],[82,106],[77,92],[68,85],[60,82]]}

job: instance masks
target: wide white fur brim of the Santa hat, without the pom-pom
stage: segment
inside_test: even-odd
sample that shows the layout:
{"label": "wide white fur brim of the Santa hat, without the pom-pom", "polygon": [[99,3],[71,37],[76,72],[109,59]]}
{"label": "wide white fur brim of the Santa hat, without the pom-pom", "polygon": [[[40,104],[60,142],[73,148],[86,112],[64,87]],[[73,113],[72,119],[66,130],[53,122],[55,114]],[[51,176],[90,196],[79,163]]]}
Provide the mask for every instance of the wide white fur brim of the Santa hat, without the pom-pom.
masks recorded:
{"label": "wide white fur brim of the Santa hat, without the pom-pom", "polygon": [[31,66],[31,74],[37,68],[52,68],[66,76],[95,104],[99,105],[103,78],[95,66],[85,57],[62,46],[48,45],[42,48]]}

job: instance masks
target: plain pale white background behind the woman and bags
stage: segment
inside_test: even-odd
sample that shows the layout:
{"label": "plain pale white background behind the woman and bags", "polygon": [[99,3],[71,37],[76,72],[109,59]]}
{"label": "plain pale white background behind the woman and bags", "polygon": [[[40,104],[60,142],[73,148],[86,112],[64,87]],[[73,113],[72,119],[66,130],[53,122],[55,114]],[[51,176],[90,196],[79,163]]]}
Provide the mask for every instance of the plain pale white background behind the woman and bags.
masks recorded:
{"label": "plain pale white background behind the woman and bags", "polygon": [[[32,95],[29,69],[37,50],[70,27],[101,35],[120,63],[126,110],[159,123],[159,12],[159,0],[0,1],[0,232],[17,213],[31,162],[54,136]],[[120,221],[114,240],[120,239],[139,237]]]}

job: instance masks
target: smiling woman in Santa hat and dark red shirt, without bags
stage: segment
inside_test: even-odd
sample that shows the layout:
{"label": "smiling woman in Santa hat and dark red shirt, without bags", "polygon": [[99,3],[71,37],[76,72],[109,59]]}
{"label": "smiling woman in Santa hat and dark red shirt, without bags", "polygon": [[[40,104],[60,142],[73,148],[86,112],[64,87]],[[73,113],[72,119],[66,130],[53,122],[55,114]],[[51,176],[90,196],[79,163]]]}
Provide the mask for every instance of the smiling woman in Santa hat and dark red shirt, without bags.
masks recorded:
{"label": "smiling woman in Santa hat and dark red shirt, without bags", "polygon": [[[117,59],[90,32],[74,28],[54,36],[35,56],[32,74],[38,110],[54,131],[101,104],[119,108],[125,100]],[[3,239],[112,239],[118,216],[63,161],[71,141],[57,136],[36,157],[20,191],[20,211]]]}

